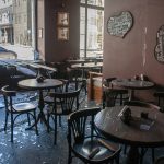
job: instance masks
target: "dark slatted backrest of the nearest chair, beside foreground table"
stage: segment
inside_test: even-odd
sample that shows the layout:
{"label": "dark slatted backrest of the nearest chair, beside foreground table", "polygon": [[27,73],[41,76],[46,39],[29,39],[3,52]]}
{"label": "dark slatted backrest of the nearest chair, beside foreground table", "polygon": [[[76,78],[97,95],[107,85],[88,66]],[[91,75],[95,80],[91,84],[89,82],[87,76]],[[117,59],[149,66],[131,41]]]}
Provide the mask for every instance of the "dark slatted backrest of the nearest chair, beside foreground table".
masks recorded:
{"label": "dark slatted backrest of the nearest chair, beside foreground table", "polygon": [[[74,112],[68,117],[68,142],[71,144],[72,138],[74,142],[83,142],[86,136],[93,136],[94,116],[101,110],[99,107],[86,108]],[[89,120],[89,121],[87,121]],[[86,133],[86,126],[90,122],[91,132]]]}

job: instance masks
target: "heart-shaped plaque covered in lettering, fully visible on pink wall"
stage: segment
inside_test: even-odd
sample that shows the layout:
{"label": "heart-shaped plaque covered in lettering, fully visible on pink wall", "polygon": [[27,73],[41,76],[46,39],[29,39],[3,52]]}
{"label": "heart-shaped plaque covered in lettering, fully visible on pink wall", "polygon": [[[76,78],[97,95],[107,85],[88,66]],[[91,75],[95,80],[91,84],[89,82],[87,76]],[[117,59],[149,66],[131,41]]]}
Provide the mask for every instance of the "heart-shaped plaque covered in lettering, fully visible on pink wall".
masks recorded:
{"label": "heart-shaped plaque covered in lettering, fully visible on pink wall", "polygon": [[107,22],[107,31],[110,35],[125,37],[132,27],[132,15],[124,11],[118,15],[110,16]]}

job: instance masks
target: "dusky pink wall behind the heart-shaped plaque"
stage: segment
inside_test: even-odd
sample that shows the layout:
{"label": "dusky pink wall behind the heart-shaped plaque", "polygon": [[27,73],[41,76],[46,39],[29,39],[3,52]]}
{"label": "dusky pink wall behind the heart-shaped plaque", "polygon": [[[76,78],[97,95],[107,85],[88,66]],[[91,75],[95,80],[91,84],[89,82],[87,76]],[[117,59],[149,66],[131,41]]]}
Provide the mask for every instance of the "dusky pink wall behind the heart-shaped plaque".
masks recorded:
{"label": "dusky pink wall behind the heart-shaped plaque", "polygon": [[[125,38],[107,33],[107,21],[130,11],[133,26]],[[104,35],[104,77],[132,78],[145,74],[164,85],[164,65],[154,58],[157,30],[164,24],[164,0],[106,0]]]}

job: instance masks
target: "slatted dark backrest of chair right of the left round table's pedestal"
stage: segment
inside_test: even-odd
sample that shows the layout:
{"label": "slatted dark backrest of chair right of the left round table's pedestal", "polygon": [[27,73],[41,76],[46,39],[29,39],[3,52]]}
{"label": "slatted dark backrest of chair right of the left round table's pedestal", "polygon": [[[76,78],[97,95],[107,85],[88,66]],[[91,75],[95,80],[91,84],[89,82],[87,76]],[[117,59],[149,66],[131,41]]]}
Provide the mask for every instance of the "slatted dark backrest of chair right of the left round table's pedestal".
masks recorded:
{"label": "slatted dark backrest of chair right of the left round table's pedestal", "polygon": [[[61,107],[61,114],[68,115],[73,112],[73,105],[75,99],[79,98],[80,89],[72,92],[54,92],[49,93],[54,97],[54,113],[57,113],[57,105]],[[78,106],[75,107],[78,109]]]}

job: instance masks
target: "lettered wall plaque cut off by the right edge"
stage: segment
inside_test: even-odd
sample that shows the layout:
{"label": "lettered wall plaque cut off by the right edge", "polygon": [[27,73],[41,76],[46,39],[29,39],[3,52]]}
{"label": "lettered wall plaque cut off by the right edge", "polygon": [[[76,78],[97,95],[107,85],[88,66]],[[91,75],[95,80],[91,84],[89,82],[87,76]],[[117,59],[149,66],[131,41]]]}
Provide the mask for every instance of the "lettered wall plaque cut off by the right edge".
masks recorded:
{"label": "lettered wall plaque cut off by the right edge", "polygon": [[164,63],[164,25],[160,27],[156,35],[155,59]]}

